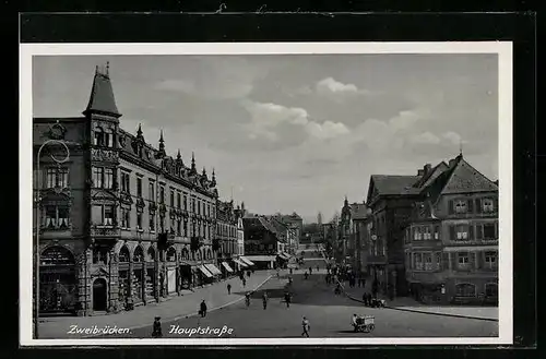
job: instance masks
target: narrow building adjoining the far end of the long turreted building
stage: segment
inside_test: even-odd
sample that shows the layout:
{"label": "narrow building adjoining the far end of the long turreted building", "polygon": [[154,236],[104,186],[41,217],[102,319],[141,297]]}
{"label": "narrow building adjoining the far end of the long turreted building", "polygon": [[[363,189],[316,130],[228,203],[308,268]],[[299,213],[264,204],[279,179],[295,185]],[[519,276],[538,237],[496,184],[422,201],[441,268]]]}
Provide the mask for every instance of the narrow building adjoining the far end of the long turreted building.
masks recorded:
{"label": "narrow building adjoining the far end of the long turreted building", "polygon": [[213,246],[217,249],[218,266],[224,276],[235,273],[234,259],[238,258],[238,218],[236,217],[234,201],[217,201],[216,205],[216,238]]}

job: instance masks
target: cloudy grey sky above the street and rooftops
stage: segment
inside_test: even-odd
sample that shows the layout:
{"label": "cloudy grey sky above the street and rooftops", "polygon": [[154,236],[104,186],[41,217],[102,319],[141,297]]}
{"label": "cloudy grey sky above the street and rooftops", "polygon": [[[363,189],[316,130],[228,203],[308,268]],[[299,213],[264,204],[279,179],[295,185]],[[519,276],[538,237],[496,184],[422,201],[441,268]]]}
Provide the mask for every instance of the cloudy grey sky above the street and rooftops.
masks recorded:
{"label": "cloudy grey sky above the street and rooftops", "polygon": [[120,127],[215,169],[221,199],[329,220],[371,175],[456,156],[498,179],[498,58],[472,55],[34,57],[35,117],[78,117],[109,61]]}

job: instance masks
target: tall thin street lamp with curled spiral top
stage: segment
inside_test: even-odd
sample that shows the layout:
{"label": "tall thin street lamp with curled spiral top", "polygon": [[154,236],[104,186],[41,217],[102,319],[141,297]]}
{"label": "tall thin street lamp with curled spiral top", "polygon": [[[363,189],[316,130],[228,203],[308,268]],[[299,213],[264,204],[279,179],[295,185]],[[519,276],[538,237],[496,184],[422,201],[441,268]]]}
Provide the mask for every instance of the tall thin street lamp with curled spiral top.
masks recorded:
{"label": "tall thin street lamp with curled spiral top", "polygon": [[34,295],[34,336],[37,339],[38,338],[38,326],[39,326],[39,203],[41,201],[40,196],[40,173],[39,173],[39,159],[41,155],[41,149],[49,144],[60,144],[64,147],[67,151],[67,155],[64,158],[57,158],[54,156],[54,154],[49,154],[51,159],[57,163],[57,165],[61,165],[69,160],[70,158],[70,151],[64,141],[60,140],[48,140],[41,144],[41,146],[38,148],[38,154],[36,156],[36,243],[35,243],[35,249],[34,249],[34,256],[35,256],[35,295]]}

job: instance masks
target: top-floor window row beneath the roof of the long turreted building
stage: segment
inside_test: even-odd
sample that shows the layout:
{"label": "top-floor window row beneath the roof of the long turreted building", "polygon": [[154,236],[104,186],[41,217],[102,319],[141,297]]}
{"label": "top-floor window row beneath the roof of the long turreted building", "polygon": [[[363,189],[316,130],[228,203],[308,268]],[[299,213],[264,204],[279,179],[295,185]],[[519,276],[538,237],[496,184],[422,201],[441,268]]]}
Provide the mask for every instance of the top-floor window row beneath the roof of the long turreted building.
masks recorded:
{"label": "top-floor window row beneath the roof of the long turreted building", "polygon": [[[136,177],[136,196],[143,198],[142,195],[142,182],[143,178]],[[155,180],[149,179],[149,200],[151,202],[166,203],[165,198],[165,186],[159,186],[159,198],[155,196]],[[114,169],[107,167],[93,167],[93,187],[95,188],[104,188],[111,189],[114,187]],[[131,194],[131,183],[130,183],[130,175],[128,172],[121,171],[120,176],[120,190],[123,193]],[[182,208],[182,193],[174,188],[169,189],[169,206],[173,208]],[[176,196],[176,206],[175,206],[175,196]],[[183,194],[183,210],[188,211],[188,195]],[[205,201],[200,201],[191,198],[191,212],[197,213],[198,215],[206,215],[209,217],[214,216],[215,206],[211,203],[206,203]]]}

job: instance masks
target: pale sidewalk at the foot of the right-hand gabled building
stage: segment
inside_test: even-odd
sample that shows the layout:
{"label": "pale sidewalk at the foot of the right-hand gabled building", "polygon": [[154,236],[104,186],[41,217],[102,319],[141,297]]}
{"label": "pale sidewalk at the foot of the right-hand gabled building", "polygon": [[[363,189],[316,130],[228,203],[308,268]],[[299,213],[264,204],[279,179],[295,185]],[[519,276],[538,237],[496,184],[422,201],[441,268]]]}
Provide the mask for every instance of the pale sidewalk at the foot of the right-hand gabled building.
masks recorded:
{"label": "pale sidewalk at the foot of the right-hand gabled building", "polygon": [[[371,292],[371,284],[367,280],[366,288],[349,288],[348,285],[343,284],[345,295],[356,301],[361,302],[363,294],[366,290]],[[478,319],[485,321],[498,321],[499,320],[499,309],[498,307],[466,307],[466,306],[427,306],[420,303],[408,297],[399,297],[394,300],[389,300],[388,298],[379,295],[380,299],[387,301],[387,308],[393,310],[402,310],[408,312],[432,314],[432,315],[444,315],[444,316],[460,316],[468,319]]]}

